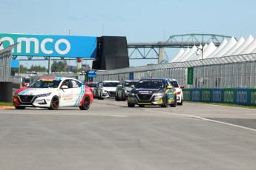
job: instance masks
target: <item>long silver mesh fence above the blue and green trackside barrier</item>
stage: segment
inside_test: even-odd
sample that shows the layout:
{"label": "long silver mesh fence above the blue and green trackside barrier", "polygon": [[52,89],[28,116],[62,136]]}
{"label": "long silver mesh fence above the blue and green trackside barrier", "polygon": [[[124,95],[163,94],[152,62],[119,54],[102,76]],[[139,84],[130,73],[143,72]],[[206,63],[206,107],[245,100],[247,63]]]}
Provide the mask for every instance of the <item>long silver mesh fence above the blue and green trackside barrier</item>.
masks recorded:
{"label": "long silver mesh fence above the blue and green trackside barrier", "polygon": [[[193,84],[188,84],[192,67]],[[256,54],[232,55],[144,67],[97,71],[93,81],[123,81],[140,78],[175,78],[188,88],[256,87]]]}

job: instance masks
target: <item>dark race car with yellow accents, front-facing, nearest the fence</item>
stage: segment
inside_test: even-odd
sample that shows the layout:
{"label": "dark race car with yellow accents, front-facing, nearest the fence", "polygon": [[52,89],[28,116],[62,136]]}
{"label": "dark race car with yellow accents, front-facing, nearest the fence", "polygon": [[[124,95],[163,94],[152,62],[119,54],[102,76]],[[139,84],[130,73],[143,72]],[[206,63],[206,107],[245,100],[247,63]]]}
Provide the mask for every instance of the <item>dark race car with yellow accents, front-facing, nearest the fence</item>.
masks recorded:
{"label": "dark race car with yellow accents, front-facing, nearest the fence", "polygon": [[136,104],[140,107],[145,105],[168,106],[168,89],[171,84],[165,78],[147,78],[140,80],[128,95],[128,107]]}

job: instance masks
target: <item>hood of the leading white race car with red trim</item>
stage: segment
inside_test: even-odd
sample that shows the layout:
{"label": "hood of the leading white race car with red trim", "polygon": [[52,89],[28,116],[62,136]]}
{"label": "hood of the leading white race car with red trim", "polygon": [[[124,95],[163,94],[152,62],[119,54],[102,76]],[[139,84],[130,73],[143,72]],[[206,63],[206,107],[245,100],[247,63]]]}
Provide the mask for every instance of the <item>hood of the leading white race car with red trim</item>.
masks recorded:
{"label": "hood of the leading white race car with red trim", "polygon": [[45,89],[45,88],[21,88],[15,93],[18,95],[41,95],[48,92],[56,92],[56,89]]}

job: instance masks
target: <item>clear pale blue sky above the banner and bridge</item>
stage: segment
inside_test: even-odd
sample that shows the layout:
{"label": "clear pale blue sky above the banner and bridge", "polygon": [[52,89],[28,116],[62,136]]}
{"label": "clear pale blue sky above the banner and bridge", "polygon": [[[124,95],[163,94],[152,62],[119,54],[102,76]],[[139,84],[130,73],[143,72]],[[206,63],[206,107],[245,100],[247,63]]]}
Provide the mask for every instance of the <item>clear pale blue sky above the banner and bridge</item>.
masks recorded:
{"label": "clear pale blue sky above the banner and bridge", "polygon": [[[211,33],[256,37],[254,0],[0,0],[1,33],[126,36],[128,43]],[[168,59],[177,50],[166,50]],[[33,61],[22,61],[27,66]],[[44,63],[44,62],[42,62]],[[88,61],[90,64],[91,61]],[[131,66],[157,61],[130,61]],[[44,63],[47,66],[47,62]]]}

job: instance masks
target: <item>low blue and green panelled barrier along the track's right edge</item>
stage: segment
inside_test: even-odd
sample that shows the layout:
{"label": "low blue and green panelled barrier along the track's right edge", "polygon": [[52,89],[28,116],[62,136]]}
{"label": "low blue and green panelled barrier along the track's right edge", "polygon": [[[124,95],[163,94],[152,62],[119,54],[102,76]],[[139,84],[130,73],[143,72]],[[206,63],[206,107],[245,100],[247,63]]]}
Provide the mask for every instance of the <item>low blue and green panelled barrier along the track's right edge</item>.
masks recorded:
{"label": "low blue and green panelled barrier along the track's right edge", "polygon": [[232,103],[256,106],[256,89],[252,88],[194,88],[183,89],[184,101]]}

